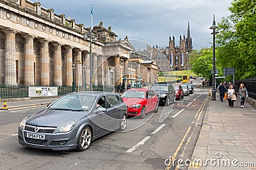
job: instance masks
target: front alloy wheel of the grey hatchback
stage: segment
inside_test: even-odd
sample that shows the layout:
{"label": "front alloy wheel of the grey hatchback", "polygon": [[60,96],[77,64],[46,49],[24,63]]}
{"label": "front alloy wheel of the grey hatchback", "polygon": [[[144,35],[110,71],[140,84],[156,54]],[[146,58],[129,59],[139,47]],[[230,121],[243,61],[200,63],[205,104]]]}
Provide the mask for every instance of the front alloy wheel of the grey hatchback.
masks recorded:
{"label": "front alloy wheel of the grey hatchback", "polygon": [[78,136],[77,150],[84,151],[87,150],[92,142],[92,130],[90,127],[84,127]]}

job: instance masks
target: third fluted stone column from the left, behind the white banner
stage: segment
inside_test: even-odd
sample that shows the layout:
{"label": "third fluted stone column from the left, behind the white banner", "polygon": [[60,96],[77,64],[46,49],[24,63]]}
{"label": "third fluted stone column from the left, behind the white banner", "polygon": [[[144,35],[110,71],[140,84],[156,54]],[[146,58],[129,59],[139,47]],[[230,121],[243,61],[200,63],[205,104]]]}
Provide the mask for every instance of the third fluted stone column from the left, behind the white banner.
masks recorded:
{"label": "third fluted stone column from the left, behind the white banner", "polygon": [[40,83],[42,86],[50,85],[49,69],[49,41],[40,40],[41,43],[41,76]]}

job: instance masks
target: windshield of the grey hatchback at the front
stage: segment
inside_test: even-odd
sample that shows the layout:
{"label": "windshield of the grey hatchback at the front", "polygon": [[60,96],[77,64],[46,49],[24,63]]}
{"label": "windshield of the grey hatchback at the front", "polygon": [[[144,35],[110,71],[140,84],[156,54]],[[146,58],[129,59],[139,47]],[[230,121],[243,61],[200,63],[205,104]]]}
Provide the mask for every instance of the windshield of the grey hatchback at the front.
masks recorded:
{"label": "windshield of the grey hatchback at the front", "polygon": [[95,101],[93,96],[67,95],[61,97],[58,101],[51,104],[50,110],[72,110],[83,111],[90,110]]}

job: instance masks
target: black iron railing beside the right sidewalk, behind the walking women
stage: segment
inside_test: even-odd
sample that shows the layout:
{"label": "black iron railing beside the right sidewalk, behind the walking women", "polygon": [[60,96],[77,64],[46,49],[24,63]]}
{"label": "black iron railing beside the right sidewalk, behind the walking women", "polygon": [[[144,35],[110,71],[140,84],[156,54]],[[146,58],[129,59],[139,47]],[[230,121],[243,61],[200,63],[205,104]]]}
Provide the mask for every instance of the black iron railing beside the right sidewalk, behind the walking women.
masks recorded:
{"label": "black iron railing beside the right sidewalk, behind the walking women", "polygon": [[248,90],[249,97],[256,99],[256,78],[235,81],[236,90],[239,89],[241,83],[244,83],[244,86]]}

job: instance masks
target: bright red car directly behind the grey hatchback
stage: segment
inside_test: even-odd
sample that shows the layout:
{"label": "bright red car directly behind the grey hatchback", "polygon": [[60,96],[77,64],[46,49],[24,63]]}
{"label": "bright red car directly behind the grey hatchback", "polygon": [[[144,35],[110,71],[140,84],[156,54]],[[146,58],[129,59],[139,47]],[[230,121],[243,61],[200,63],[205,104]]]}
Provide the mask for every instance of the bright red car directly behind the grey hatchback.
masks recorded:
{"label": "bright red car directly behind the grey hatchback", "polygon": [[144,118],[150,111],[157,112],[158,98],[150,89],[129,89],[122,95],[124,103],[128,106],[127,115]]}

